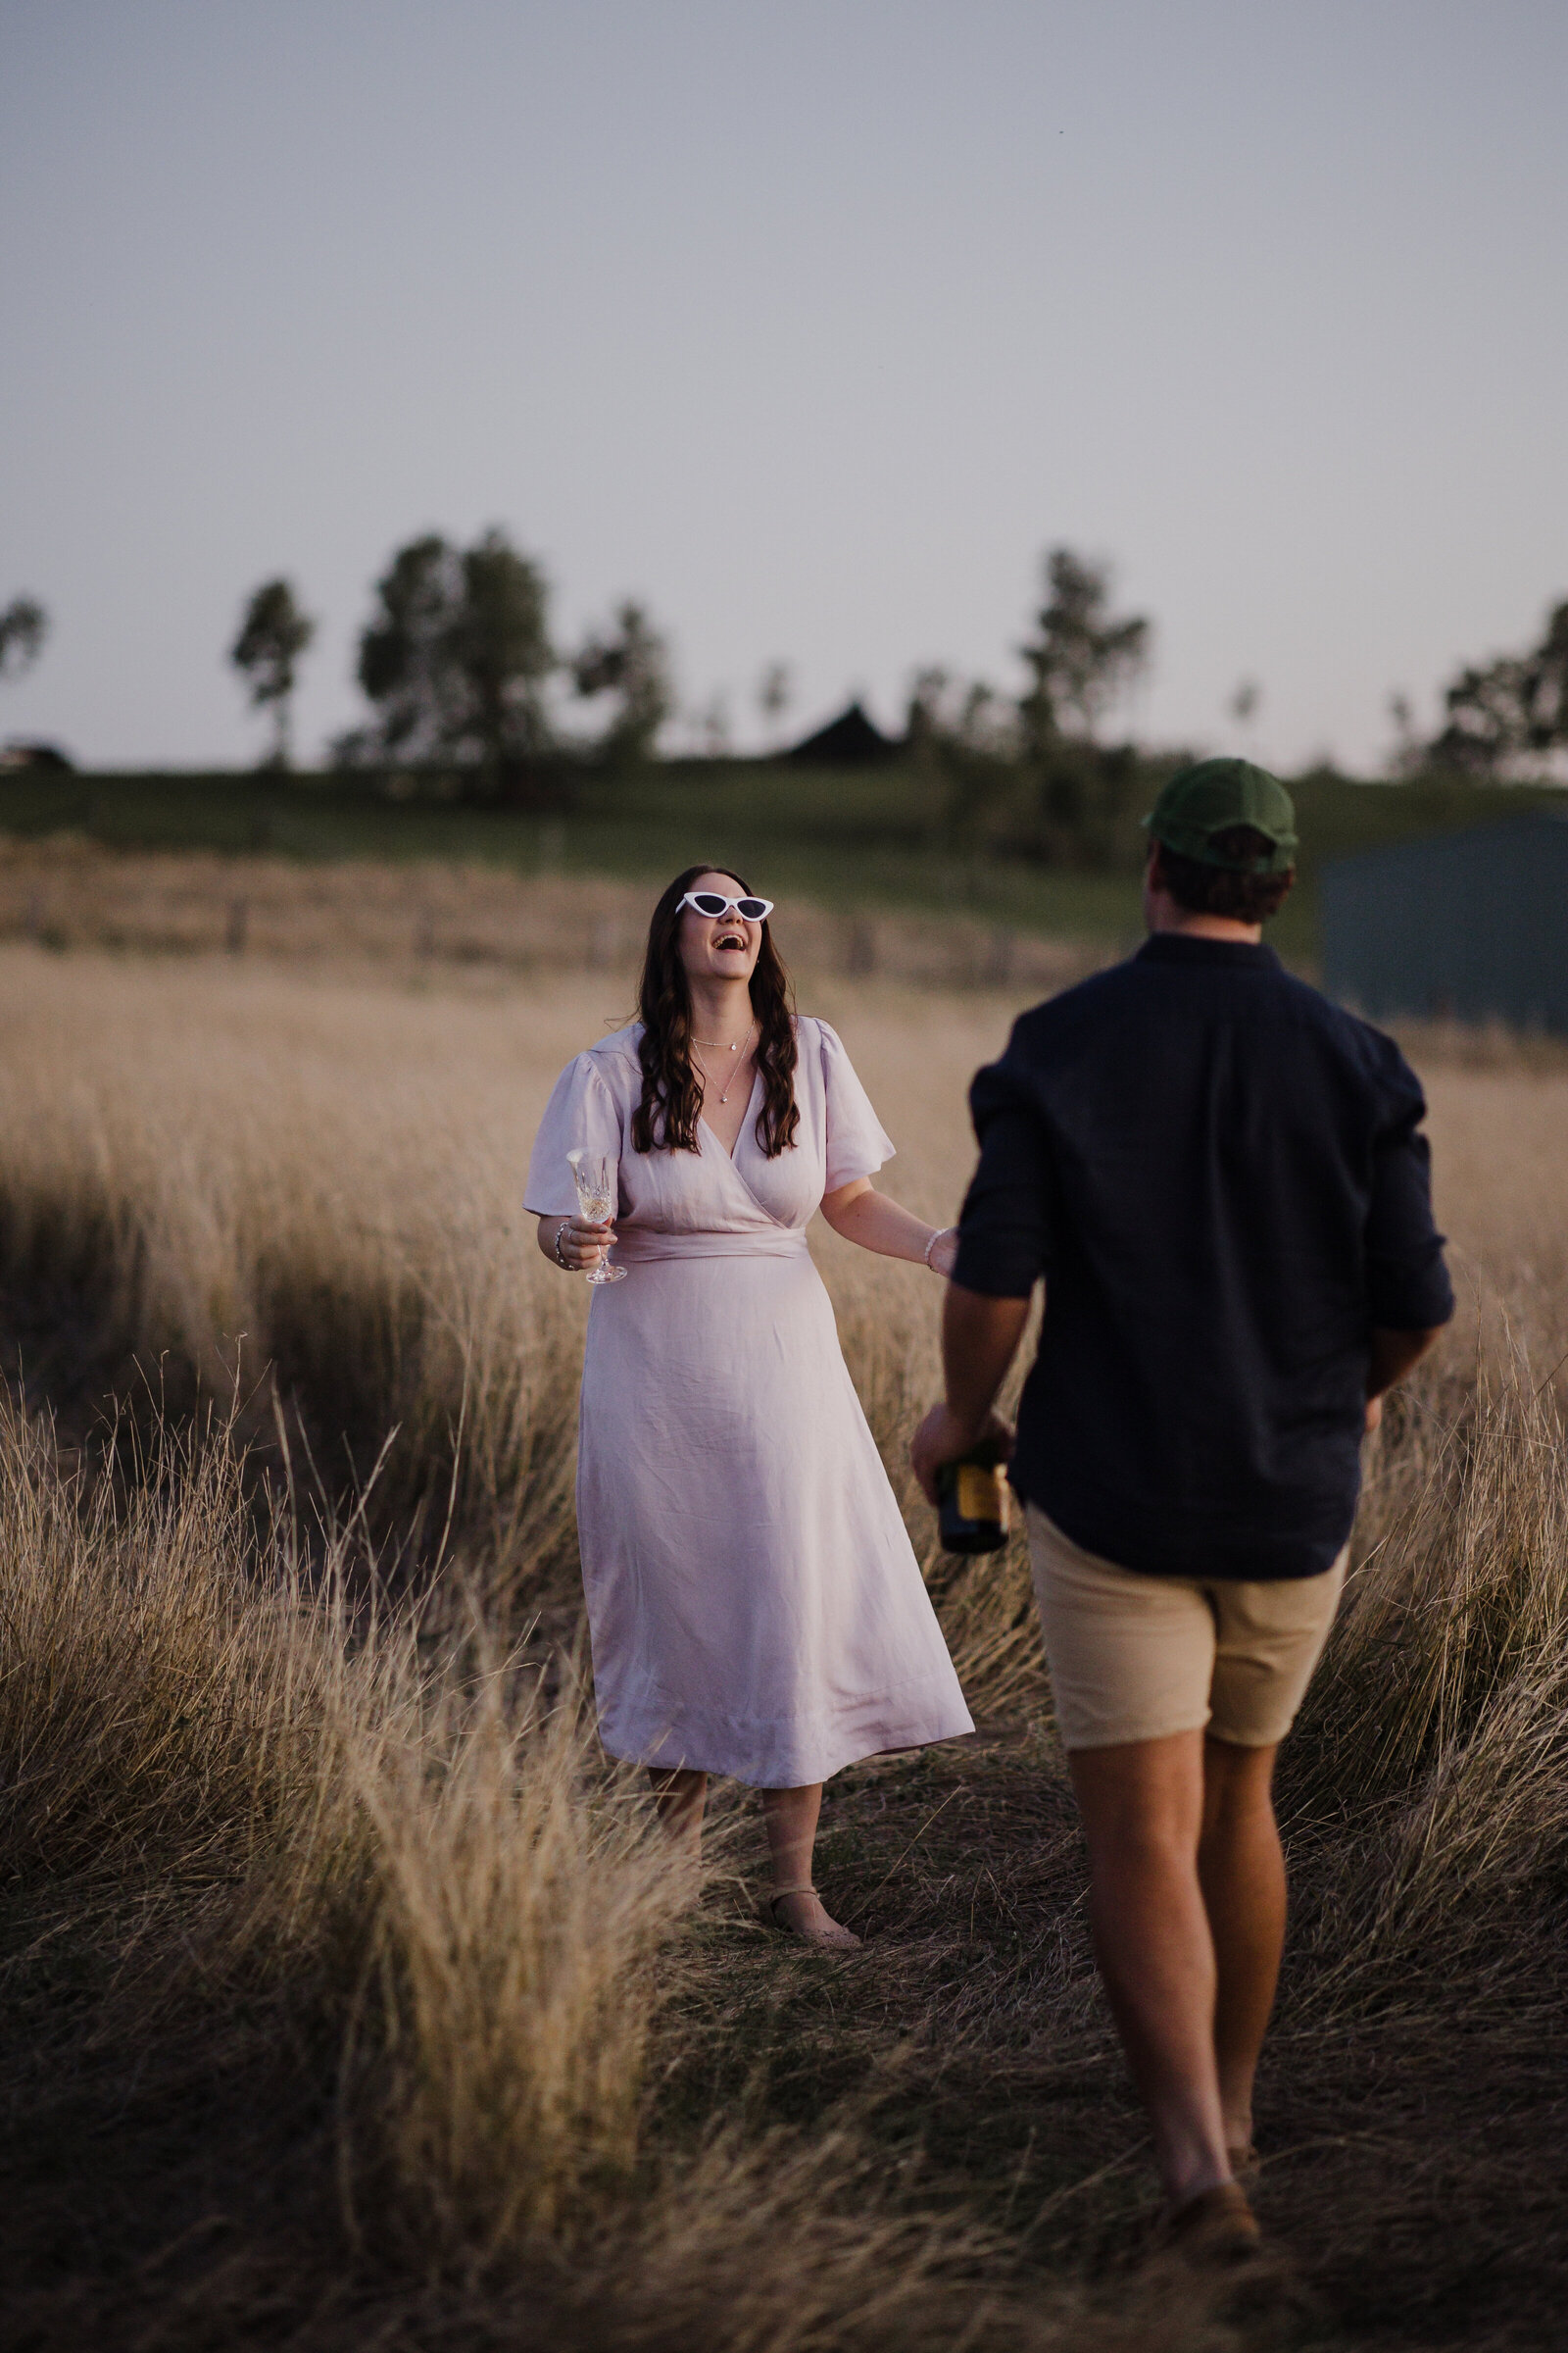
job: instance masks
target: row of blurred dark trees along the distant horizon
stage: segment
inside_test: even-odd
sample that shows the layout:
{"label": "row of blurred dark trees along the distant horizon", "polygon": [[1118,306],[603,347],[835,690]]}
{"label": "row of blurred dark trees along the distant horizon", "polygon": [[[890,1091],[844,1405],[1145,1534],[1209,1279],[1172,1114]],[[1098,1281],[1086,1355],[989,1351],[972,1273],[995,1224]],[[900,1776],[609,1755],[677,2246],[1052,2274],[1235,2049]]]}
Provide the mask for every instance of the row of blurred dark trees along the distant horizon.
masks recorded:
{"label": "row of blurred dark trees along the distant horizon", "polygon": [[[228,659],[252,708],[270,718],[268,767],[292,762],[299,668],[315,635],[315,619],[284,576],[263,581],[240,616]],[[0,607],[0,680],[21,678],[47,638],[49,614],[38,598],[14,595]],[[1131,805],[1147,793],[1150,767],[1168,765],[1131,741],[1103,741],[1117,701],[1150,668],[1152,640],[1147,614],[1112,612],[1105,562],[1056,546],[1041,558],[1039,605],[1018,645],[1023,694],[933,666],[914,673],[903,751],[938,779],[943,826],[954,840],[1079,861],[1112,854]],[[369,715],[331,746],[339,765],[437,769],[487,798],[559,791],[588,767],[635,769],[658,755],[675,715],[670,645],[649,609],[628,598],[602,628],[562,647],[543,567],[501,527],[468,548],[425,532],[393,553],[360,631],[355,675]],[[788,668],[769,664],[757,711],[771,751],[783,748],[790,699]],[[1246,729],[1258,701],[1248,678],[1227,711]],[[1403,696],[1392,696],[1389,708],[1399,734],[1392,774],[1566,776],[1568,600],[1547,612],[1526,652],[1462,666],[1432,736],[1415,729]],[[689,715],[689,729],[708,758],[729,758],[724,694]]]}

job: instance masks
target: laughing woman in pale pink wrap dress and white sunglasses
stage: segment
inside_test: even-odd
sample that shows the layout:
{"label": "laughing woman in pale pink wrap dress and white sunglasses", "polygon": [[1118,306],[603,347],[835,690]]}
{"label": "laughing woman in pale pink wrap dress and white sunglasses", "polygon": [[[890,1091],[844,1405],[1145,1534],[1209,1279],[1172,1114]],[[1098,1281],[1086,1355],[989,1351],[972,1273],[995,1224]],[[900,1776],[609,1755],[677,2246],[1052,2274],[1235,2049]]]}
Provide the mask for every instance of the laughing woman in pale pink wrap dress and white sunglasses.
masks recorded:
{"label": "laughing woman in pale pink wrap dress and white sunglasses", "polygon": [[[552,1266],[625,1273],[588,1315],[576,1487],[604,1746],[693,1838],[708,1774],[762,1788],[773,1922],[849,1946],[811,1885],[823,1781],[973,1722],[806,1226],[938,1275],[954,1235],[875,1191],[893,1146],[790,1014],[769,913],[722,868],[670,882],[642,1019],[562,1071],[527,1207]],[[576,1148],[616,1162],[614,1221],[578,1209]]]}

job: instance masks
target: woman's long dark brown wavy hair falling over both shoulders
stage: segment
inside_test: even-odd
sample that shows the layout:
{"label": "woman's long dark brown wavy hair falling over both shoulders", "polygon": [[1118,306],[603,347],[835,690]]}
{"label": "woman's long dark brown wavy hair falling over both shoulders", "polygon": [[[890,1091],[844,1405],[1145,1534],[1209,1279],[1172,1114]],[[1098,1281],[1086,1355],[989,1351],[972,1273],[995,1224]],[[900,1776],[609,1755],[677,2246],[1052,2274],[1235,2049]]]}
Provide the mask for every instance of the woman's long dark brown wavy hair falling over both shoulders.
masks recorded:
{"label": "woman's long dark brown wavy hair falling over both shoulders", "polygon": [[[710,859],[703,866],[686,866],[654,908],[637,991],[642,1101],[632,1113],[632,1144],[639,1153],[661,1148],[693,1153],[698,1148],[696,1122],[703,1111],[703,1082],[691,1068],[691,984],[679,960],[682,899],[698,875],[729,875],[741,887],[743,899],[752,896],[752,885],[733,866],[717,866]],[[795,1104],[795,998],[766,920],[750,986],[759,1031],[757,1068],[762,1071],[757,1144],[769,1160],[776,1160],[795,1144],[799,1108]]]}

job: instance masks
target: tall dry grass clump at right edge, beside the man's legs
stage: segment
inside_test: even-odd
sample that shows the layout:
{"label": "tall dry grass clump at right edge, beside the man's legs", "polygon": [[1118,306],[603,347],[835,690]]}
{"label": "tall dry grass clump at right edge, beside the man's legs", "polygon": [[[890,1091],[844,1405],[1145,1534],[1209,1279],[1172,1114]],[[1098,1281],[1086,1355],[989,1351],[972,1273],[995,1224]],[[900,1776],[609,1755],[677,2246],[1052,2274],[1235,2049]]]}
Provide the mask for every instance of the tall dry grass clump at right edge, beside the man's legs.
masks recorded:
{"label": "tall dry grass clump at right edge, beside the man's legs", "polygon": [[1561,1407],[1502,1346],[1467,1391],[1439,1374],[1396,1414],[1291,1760],[1319,1802],[1354,1791],[1366,1842],[1340,1845],[1319,1998],[1436,1941],[1507,1972],[1497,1911],[1549,1885],[1568,1842]]}

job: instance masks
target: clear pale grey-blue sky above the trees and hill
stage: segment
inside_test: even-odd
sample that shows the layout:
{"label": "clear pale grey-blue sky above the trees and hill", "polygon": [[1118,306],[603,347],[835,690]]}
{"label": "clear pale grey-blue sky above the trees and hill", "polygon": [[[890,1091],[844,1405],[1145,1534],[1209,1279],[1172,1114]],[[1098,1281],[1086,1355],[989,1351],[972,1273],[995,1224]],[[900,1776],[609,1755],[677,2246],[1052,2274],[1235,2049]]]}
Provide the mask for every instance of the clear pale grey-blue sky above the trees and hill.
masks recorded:
{"label": "clear pale grey-blue sky above the trees and hill", "polygon": [[1375,765],[1568,595],[1566,94],[1563,0],[0,0],[0,734],[249,758],[287,572],[313,753],[494,520],[743,741],[1016,689],[1070,541],[1140,736]]}

